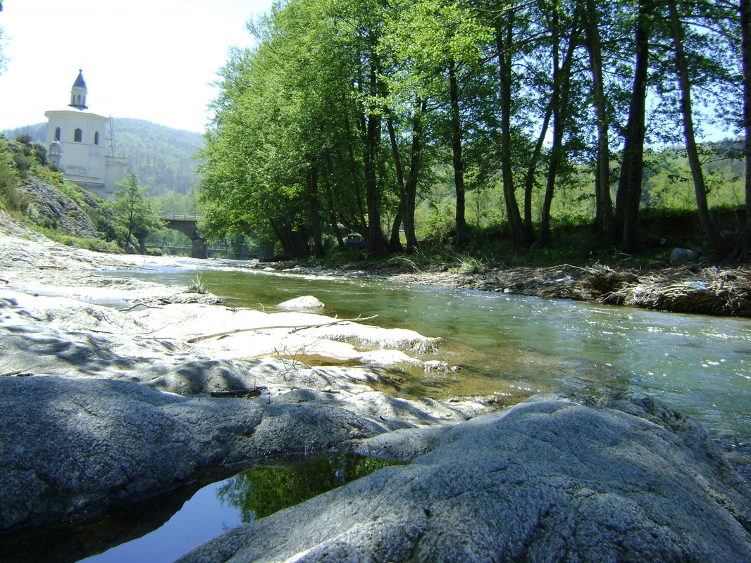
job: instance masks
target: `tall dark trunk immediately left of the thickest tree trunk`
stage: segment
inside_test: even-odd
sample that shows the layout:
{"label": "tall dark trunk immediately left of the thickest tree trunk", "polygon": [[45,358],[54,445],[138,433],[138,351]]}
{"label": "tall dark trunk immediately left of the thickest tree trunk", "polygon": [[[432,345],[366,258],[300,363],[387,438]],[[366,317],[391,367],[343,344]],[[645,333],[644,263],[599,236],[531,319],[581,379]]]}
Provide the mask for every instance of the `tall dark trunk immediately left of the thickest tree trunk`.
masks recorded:
{"label": "tall dark trunk immediately left of the thickest tree trunk", "polygon": [[595,230],[610,239],[616,238],[613,200],[610,194],[610,143],[608,142],[608,108],[605,104],[605,84],[602,79],[602,41],[599,15],[594,0],[587,0],[587,47],[593,78],[593,98],[597,113],[597,162],[595,176]]}

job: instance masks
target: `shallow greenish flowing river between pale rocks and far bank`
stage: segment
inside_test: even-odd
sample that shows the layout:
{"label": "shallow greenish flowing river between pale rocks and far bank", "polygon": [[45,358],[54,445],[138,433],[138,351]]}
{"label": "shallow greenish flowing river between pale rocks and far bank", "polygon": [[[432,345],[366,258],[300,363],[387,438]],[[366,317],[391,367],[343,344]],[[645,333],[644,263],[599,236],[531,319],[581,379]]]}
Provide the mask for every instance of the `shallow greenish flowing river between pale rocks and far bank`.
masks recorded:
{"label": "shallow greenish flowing river between pale rocks and far bank", "polygon": [[699,420],[749,474],[749,319],[260,270],[242,262],[196,264],[187,260],[184,267],[149,267],[128,275],[164,284],[200,282],[226,305],[251,309],[273,309],[312,295],[325,304],[325,315],[378,315],[373,322],[379,326],[443,339],[436,354],[422,359],[448,363],[448,369],[394,370],[385,390],[397,396],[494,394],[502,404],[551,390],[655,396]]}

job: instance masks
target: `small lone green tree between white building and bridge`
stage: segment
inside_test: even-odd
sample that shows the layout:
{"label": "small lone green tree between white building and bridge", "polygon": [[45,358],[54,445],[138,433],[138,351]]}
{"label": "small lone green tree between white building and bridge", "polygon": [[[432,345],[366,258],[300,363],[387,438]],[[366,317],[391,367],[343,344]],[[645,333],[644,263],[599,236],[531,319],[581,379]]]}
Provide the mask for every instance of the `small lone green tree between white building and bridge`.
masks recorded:
{"label": "small lone green tree between white building and bridge", "polygon": [[[131,172],[116,183],[114,199],[109,203],[116,221],[122,244],[137,245],[141,254],[146,252],[146,236],[161,228],[161,221],[146,199],[148,186],[138,185],[138,176]],[[133,240],[134,239],[134,240]]]}

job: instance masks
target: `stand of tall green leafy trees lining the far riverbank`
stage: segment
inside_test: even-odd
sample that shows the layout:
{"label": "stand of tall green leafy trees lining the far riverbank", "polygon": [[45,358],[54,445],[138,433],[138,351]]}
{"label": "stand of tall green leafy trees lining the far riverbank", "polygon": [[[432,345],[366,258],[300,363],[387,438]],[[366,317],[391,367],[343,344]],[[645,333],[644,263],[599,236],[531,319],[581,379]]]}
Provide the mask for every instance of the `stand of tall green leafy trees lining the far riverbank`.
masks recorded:
{"label": "stand of tall green leafy trees lining the far riverbank", "polygon": [[204,229],[297,257],[358,233],[376,256],[490,232],[544,246],[584,222],[628,252],[645,212],[678,207],[717,257],[744,256],[748,224],[728,238],[713,213],[751,217],[749,6],[276,2],[220,72]]}

